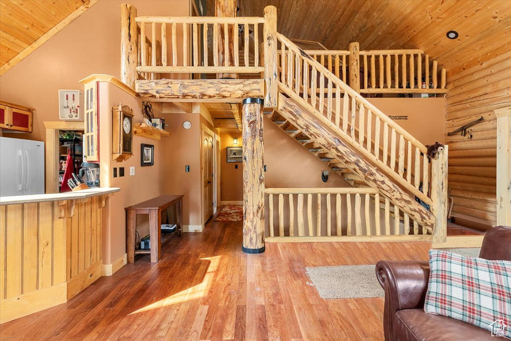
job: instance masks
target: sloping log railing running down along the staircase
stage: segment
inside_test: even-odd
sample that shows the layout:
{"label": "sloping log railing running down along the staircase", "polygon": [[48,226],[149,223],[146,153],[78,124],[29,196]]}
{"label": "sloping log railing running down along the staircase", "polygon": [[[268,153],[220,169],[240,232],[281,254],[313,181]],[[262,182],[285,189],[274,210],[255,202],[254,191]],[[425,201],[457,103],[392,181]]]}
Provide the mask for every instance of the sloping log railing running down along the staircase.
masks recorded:
{"label": "sloping log railing running down along the staircase", "polygon": [[277,40],[281,55],[286,56],[279,65],[281,91],[309,108],[387,176],[431,205],[430,164],[424,144],[286,37],[277,34]]}

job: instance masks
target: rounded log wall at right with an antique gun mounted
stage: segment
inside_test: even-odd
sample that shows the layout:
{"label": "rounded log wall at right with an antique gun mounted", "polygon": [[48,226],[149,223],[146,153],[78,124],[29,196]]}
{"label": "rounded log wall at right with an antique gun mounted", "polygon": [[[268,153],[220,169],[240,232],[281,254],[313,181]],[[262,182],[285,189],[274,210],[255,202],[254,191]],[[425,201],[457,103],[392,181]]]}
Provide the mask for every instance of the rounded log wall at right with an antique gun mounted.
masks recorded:
{"label": "rounded log wall at right with an antique gun mounted", "polygon": [[[507,47],[506,47],[507,46]],[[449,144],[449,197],[452,216],[464,226],[496,225],[497,121],[493,110],[511,105],[509,45],[449,71],[446,143]],[[479,117],[470,135],[447,133]]]}

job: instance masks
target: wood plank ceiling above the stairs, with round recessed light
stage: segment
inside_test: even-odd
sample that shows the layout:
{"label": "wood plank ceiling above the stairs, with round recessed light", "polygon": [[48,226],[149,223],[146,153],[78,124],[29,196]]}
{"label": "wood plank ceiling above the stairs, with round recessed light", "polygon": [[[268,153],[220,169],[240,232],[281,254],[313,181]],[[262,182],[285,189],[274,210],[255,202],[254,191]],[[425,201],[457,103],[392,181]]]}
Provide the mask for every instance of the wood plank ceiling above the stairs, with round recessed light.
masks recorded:
{"label": "wood plank ceiling above the stairs, with round recessed light", "polygon": [[[509,0],[238,0],[238,16],[262,16],[268,5],[280,33],[329,50],[355,41],[361,50],[420,48],[453,70],[511,49]],[[459,37],[448,39],[450,30]]]}

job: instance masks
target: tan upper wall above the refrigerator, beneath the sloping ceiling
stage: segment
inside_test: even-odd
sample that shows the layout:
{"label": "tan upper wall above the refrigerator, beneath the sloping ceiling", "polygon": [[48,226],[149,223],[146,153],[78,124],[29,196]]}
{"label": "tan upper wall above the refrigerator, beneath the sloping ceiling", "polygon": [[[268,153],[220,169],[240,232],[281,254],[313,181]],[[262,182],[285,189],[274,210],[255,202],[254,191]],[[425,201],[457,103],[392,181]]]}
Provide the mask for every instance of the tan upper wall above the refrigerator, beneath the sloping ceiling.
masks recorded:
{"label": "tan upper wall above the refrigerator, beneath the sloping ceiling", "polygon": [[[83,90],[79,81],[91,74],[120,78],[122,3],[100,1],[0,77],[0,100],[36,109],[32,134],[5,136],[44,140],[43,121],[58,120],[58,89]],[[189,15],[188,1],[129,3],[139,16]]]}

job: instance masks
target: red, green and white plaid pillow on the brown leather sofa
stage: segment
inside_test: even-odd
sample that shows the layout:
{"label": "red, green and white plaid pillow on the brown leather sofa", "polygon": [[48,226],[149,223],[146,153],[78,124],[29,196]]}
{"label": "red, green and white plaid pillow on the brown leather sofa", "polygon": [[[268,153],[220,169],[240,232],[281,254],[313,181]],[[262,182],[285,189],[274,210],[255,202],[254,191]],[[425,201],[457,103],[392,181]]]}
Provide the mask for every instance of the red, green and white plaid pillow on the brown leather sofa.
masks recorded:
{"label": "red, green and white plaid pillow on the brown leather sofa", "polygon": [[431,250],[429,265],[425,312],[511,338],[511,261]]}

